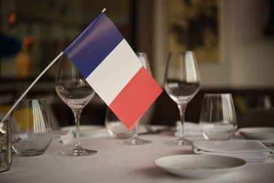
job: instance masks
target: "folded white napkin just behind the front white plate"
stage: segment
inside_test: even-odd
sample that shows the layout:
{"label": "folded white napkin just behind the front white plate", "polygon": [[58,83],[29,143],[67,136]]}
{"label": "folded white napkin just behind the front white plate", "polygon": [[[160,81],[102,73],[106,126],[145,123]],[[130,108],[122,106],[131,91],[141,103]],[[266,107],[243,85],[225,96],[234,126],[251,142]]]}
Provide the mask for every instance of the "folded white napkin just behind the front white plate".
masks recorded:
{"label": "folded white napkin just behind the front white plate", "polygon": [[247,162],[274,160],[274,151],[259,141],[193,141],[195,154],[214,154],[241,158]]}

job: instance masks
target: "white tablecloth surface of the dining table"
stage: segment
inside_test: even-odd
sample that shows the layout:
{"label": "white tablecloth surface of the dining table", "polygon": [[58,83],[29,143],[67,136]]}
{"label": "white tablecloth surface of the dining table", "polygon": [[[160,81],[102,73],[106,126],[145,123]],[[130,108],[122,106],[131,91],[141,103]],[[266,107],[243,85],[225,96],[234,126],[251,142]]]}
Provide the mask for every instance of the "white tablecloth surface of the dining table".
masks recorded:
{"label": "white tablecloth surface of the dining table", "polygon": [[[123,139],[112,138],[105,129],[100,132],[101,135],[98,135],[90,130],[89,136],[81,136],[84,147],[98,151],[92,156],[60,156],[61,151],[75,145],[75,140],[67,145],[51,143],[45,154],[40,156],[13,154],[11,168],[0,173],[0,182],[274,182],[274,162],[247,162],[242,169],[212,178],[179,177],[154,164],[155,160],[164,156],[193,154],[190,145],[165,144],[175,138],[174,133],[146,134],[141,137],[151,143],[123,145]],[[203,141],[201,135],[186,134],[186,138]],[[237,139],[234,137],[235,141]]]}

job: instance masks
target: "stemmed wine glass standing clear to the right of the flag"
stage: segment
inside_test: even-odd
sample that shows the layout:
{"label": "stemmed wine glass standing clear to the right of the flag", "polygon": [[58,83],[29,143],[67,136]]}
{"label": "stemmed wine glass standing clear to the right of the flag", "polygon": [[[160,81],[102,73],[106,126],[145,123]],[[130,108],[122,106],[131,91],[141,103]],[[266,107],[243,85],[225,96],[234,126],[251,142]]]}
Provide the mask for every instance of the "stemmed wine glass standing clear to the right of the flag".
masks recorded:
{"label": "stemmed wine glass standing clear to the right of the flag", "polygon": [[164,75],[166,93],[177,103],[182,123],[179,138],[166,142],[169,145],[190,145],[184,138],[184,112],[188,102],[200,88],[200,75],[193,51],[172,51],[169,53]]}

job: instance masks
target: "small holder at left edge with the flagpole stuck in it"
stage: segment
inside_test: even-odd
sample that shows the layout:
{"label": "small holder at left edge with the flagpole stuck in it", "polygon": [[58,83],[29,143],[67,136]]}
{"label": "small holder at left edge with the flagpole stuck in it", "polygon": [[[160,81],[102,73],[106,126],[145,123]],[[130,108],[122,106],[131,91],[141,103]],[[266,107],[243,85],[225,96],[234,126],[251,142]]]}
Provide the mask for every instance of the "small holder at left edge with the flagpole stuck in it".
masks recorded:
{"label": "small holder at left edge with the flagpole stuck in it", "polygon": [[[1,120],[0,120],[1,121]],[[12,138],[10,123],[8,120],[1,121],[5,133],[0,132],[0,172],[8,171],[12,164]]]}

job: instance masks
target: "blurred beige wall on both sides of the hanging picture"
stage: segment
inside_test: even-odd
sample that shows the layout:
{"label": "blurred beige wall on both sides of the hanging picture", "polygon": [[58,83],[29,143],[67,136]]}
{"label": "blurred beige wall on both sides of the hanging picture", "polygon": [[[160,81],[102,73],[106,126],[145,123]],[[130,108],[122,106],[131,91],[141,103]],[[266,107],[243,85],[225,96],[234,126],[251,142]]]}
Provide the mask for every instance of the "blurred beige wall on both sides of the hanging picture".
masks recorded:
{"label": "blurred beige wall on both sides of the hanging picture", "polygon": [[[203,88],[274,87],[274,39],[262,35],[268,9],[263,0],[220,1],[221,60],[199,64]],[[167,53],[166,1],[154,0],[153,70],[163,83]]]}

